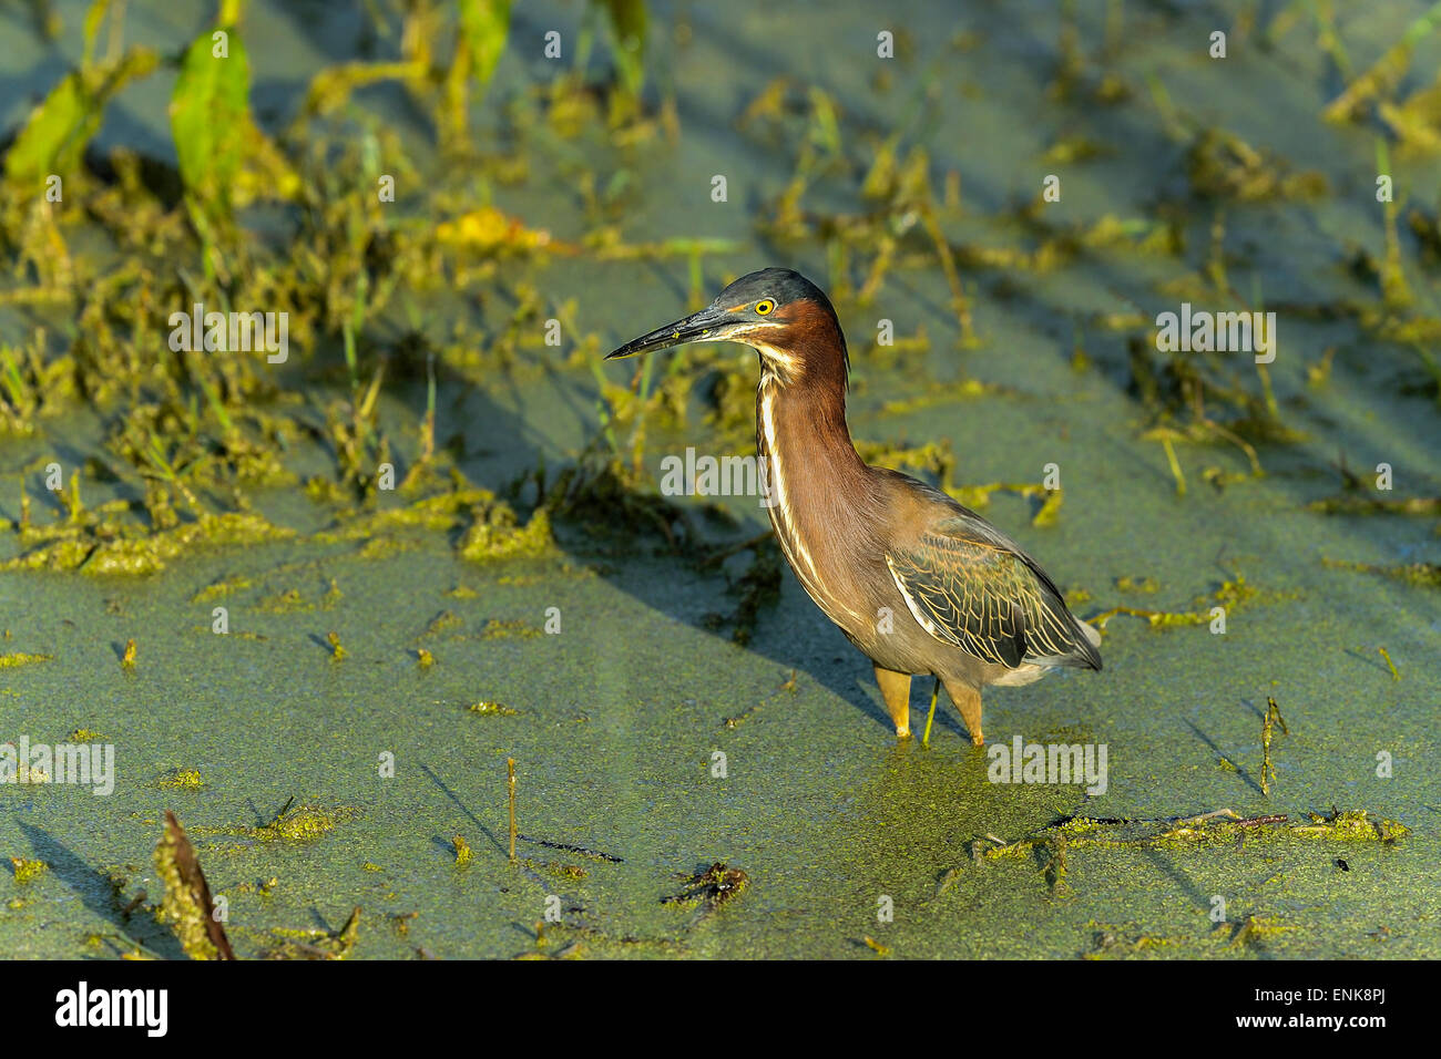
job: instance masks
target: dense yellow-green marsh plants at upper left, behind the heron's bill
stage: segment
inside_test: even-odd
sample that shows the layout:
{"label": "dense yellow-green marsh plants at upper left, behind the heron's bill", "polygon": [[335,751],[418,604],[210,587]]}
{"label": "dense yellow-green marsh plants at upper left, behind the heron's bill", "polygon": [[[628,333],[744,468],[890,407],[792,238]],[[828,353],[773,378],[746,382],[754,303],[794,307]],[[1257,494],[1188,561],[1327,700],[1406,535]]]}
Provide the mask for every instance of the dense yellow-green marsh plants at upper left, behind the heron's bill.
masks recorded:
{"label": "dense yellow-green marsh plants at upper left, behind the heron's bill", "polygon": [[[595,490],[633,488],[634,474],[612,461],[612,478],[562,475],[542,510],[522,519],[504,500],[464,484],[450,451],[437,444],[437,373],[474,380],[494,366],[519,367],[519,344],[530,343],[545,305],[522,284],[516,313],[499,334],[463,327],[450,344],[418,326],[419,307],[451,290],[496,290],[501,259],[535,268],[549,254],[581,252],[493,206],[474,207],[460,184],[419,184],[396,134],[352,102],[366,85],[395,82],[434,114],[440,150],[465,161],[473,186],[525,179],[510,157],[477,153],[467,117],[504,50],[510,4],[445,7],[427,0],[378,12],[399,23],[401,61],[324,69],[287,127],[262,130],[249,102],[241,0],[225,0],[213,29],[177,59],[141,46],[115,53],[124,4],[91,6],[79,69],[36,108],[6,153],[0,232],[14,282],[0,290],[0,305],[62,313],[75,326],[37,326],[30,341],[0,349],[0,429],[35,437],[76,401],[92,406],[105,425],[104,452],[86,463],[84,477],[130,499],[86,509],[81,470],[69,471],[73,499],[62,494],[63,520],[32,519],[22,497],[7,568],[153,573],[199,546],[293,536],[252,510],[252,496],[297,484],[301,473],[287,465],[287,454],[307,441],[333,461],[329,475],[305,475],[307,494],[334,510],[321,542],[366,539],[378,548],[380,532],[402,524],[448,530],[468,516],[457,542],[464,558],[542,556],[552,545],[552,510],[598,507],[604,500],[589,500]],[[599,86],[617,135],[654,135],[640,105],[644,6],[612,0],[595,7],[614,43],[614,84],[584,78],[582,59],[574,75],[517,105],[559,121],[566,108],[588,110]],[[111,53],[99,56],[107,22]],[[177,167],[125,148],[104,157],[88,151],[114,94],[167,63],[179,69],[170,110]],[[248,218],[267,205],[281,206],[290,245],[261,239],[251,226]],[[71,251],[76,232],[92,228],[110,252]],[[709,249],[683,241],[628,246],[612,228],[602,231],[585,252],[699,261]],[[223,307],[232,317],[259,307],[284,316],[297,356],[248,343],[228,349],[209,317],[200,347],[176,347],[171,310],[187,313],[192,304]],[[336,375],[337,359],[349,392],[327,398],[310,389]],[[428,379],[424,416],[402,439],[382,426],[380,398],[418,373]],[[376,510],[391,488],[409,506]]]}

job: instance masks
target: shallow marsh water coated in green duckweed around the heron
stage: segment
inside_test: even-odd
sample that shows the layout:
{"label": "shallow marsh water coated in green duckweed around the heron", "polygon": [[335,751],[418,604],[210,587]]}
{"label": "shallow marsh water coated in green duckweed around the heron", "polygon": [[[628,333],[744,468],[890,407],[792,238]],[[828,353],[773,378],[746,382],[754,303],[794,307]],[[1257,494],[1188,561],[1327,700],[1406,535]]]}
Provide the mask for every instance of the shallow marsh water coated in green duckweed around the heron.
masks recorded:
{"label": "shallow marsh water coated in green duckweed around the heron", "polygon": [[[576,24],[574,4],[520,7],[512,26],[519,43],[501,61],[491,98],[548,76],[545,61],[526,49],[548,27],[569,37]],[[58,52],[37,43],[4,49],[6,128],[23,118],[30,92],[53,84],[62,58],[79,53],[82,6],[58,9],[66,24]],[[298,14],[284,14],[281,6],[258,6],[246,14],[252,98],[262,118],[267,108],[285,114],[294,107],[305,86],[297,71],[350,58],[352,23],[336,16],[316,29],[307,13],[320,9],[295,6]],[[1228,10],[1221,24],[1242,9]],[[1393,4],[1342,20],[1353,65],[1365,69],[1421,10]],[[948,220],[948,235],[1029,246],[1032,236],[1000,215],[1058,171],[1059,163],[1040,156],[1063,135],[1085,134],[1107,153],[1059,167],[1062,202],[1048,210],[1063,210],[1068,220],[1147,216],[1163,196],[1185,196],[1185,144],[1167,135],[1153,105],[1144,81],[1151,73],[1197,125],[1223,127],[1330,183],[1317,202],[1228,207],[1232,284],[1242,291],[1259,284],[1268,304],[1375,297],[1344,268],[1352,243],[1378,258],[1383,252],[1373,138],[1320,121],[1340,84],[1310,22],[1270,50],[1255,46],[1259,30],[1246,37],[1232,27],[1231,58],[1221,66],[1205,53],[1216,27],[1212,9],[1127,4],[1123,46],[1108,68],[1133,97],[1088,108],[1048,95],[1059,35],[1053,6],[976,4],[954,20],[919,4],[898,12],[893,22],[908,40],[891,66],[891,85],[878,88],[869,6],[827,6],[821,14],[818,4],[742,3],[719,17],[705,6],[653,4],[653,50],[663,36],[674,48],[653,59],[653,78],[673,85],[680,141],[615,148],[595,133],[563,141],[535,128],[525,138],[529,179],[494,189],[496,205],[572,238],[584,228],[576,174],[591,167],[604,186],[625,169],[635,187],[624,209],[631,241],[686,235],[744,246],[706,258],[708,297],[733,275],[772,262],[834,285],[816,245],[771,243],[755,229],[794,161],[793,144],[767,143],[735,124],[771,78],[830,92],[847,141],[879,140],[908,120],[915,99],[929,99],[905,143],[925,146],[937,174],[960,173],[964,215]],[[1081,17],[1091,58],[1102,42],[1102,14],[1097,6]],[[208,17],[196,6],[131,4],[127,39],[176,49]],[[689,32],[677,35],[679,24]],[[957,46],[963,32],[976,36]],[[0,33],[35,42],[14,9],[0,12]],[[1437,42],[1425,42],[1404,84],[1424,85],[1438,56]],[[97,143],[166,157],[170,88],[171,76],[161,72],[122,94]],[[415,157],[428,157],[428,130],[406,124],[396,95],[378,89],[359,98],[398,122]],[[494,121],[478,114],[477,134]],[[709,199],[716,173],[729,177],[729,203]],[[827,177],[807,202],[856,210],[860,176]],[[1398,161],[1396,176],[1409,202],[1434,209],[1441,197],[1434,160]],[[157,898],[150,854],[170,808],[190,828],[212,890],[231,902],[229,932],[242,955],[269,947],[272,928],[336,929],[359,906],[357,957],[418,949],[510,957],[537,948],[535,925],[555,895],[561,924],[545,928],[540,951],[579,941],[571,949],[576,955],[875,957],[870,938],[896,957],[1437,957],[1437,591],[1323,562],[1438,562],[1437,523],[1306,510],[1339,491],[1339,458],[1368,478],[1369,468],[1389,463],[1398,494],[1437,496],[1437,403],[1401,392],[1419,377],[1412,354],[1346,320],[1282,313],[1271,377],[1285,422],[1306,439],[1262,447],[1265,477],[1219,490],[1203,480],[1203,468],[1244,473],[1239,450],[1179,445],[1189,486],[1179,497],[1161,447],[1140,439],[1150,415],[1128,392],[1125,334],[1091,321],[1102,313],[1154,317],[1177,308],[1183,298],[1159,287],[1200,269],[1212,218],[1210,203],[1192,203],[1179,258],[1097,251],[1049,274],[967,269],[983,340],[976,349],[955,346],[950,294],[934,264],[898,267],[870,307],[840,305],[857,439],[947,438],[960,484],[1035,483],[1046,464],[1058,464],[1065,503],[1053,526],[1032,526],[1032,504],[1007,494],[984,514],[1062,588],[1089,592],[1089,602],[1076,607],[1082,617],[1120,604],[1189,609],[1238,572],[1261,591],[1228,612],[1225,635],[1206,625],[1151,630],[1117,617],[1107,628],[1102,673],[987,693],[993,745],[1016,735],[1105,743],[1104,795],[987,782],[984,751],[970,746],[945,706],[928,749],[918,741],[896,745],[869,663],[790,573],[780,604],[761,612],[751,644],[738,647],[728,630],[705,622],[735,608],[726,579],[696,572],[648,537],[607,539],[562,523],[553,559],[467,563],[454,540],[414,532],[398,536],[405,548],[380,558],[362,556],[354,542],[301,539],[197,553],[144,579],[12,572],[0,575],[3,651],[55,658],[0,670],[0,739],[19,732],[32,742],[61,742],[76,728],[91,729],[117,745],[118,782],[107,798],[59,784],[0,787],[0,853],[49,864],[30,882],[0,877],[0,952],[105,955],[135,941],[176,955],[144,909],[128,918],[118,911],[108,879],[127,879],[127,902],[140,889]],[[1435,267],[1428,271],[1406,245],[1408,278],[1434,305]],[[687,310],[680,258],[630,264],[582,255],[507,269],[507,280],[535,282],[556,303],[578,298],[582,329],[607,344]],[[448,333],[448,314],[477,313],[486,321],[465,297],[437,298],[427,313],[437,334]],[[902,336],[924,326],[929,350],[879,366],[867,352],[882,317]],[[6,310],[0,337],[17,341],[33,323]],[[1072,366],[1078,329],[1091,362],[1082,370]],[[1310,386],[1307,367],[1330,346],[1337,349],[1330,379]],[[591,373],[563,367],[559,357],[543,363],[545,370],[483,383],[442,382],[437,434],[464,435],[458,465],[473,481],[499,488],[542,458],[558,467],[594,435]],[[630,363],[607,367],[617,382],[633,370]],[[1236,373],[1258,388],[1245,357]],[[1001,389],[885,411],[889,401],[963,376]],[[399,388],[386,396],[385,419],[414,434],[419,408],[424,395]],[[651,438],[651,470],[687,444],[716,454],[751,451],[748,441],[703,425],[699,406],[692,412],[684,431]],[[81,412],[45,426],[39,438],[0,442],[6,517],[19,514],[22,478],[36,496],[37,463],[50,454],[82,458],[101,437]],[[295,460],[323,464],[323,457],[307,450]],[[105,499],[107,487],[86,483],[91,497]],[[324,523],[297,491],[256,493],[254,503],[303,532]],[[764,529],[754,500],[725,503],[742,520],[738,537]],[[43,497],[35,507],[37,520],[61,517]],[[16,548],[0,540],[0,559]],[[213,604],[195,596],[236,575],[255,584],[225,601],[232,635],[212,635]],[[1157,582],[1156,592],[1117,586],[1120,578],[1143,576]],[[331,581],[339,598],[327,596]],[[474,595],[454,595],[461,585]],[[274,598],[291,589],[298,602],[277,612]],[[486,638],[491,620],[539,630],[552,607],[561,612],[559,635]],[[427,634],[447,611],[458,624]],[[329,633],[339,634],[344,660],[330,658]],[[138,647],[134,671],[120,664],[130,638]],[[437,660],[428,670],[415,663],[422,645]],[[916,682],[914,710],[924,710],[927,683]],[[1264,795],[1268,696],[1288,732],[1272,746],[1275,781]],[[467,712],[477,700],[516,713]],[[728,728],[732,718],[744,720]],[[921,723],[914,715],[912,725]],[[385,752],[395,755],[393,779],[378,777]],[[725,778],[712,772],[716,752],[725,755]],[[1380,752],[1393,759],[1391,778],[1376,775]],[[519,778],[517,854],[529,859],[520,866],[507,857],[507,758]],[[161,788],[173,769],[197,771],[203,788]],[[310,843],[208,833],[264,824],[290,798],[353,816]],[[1065,854],[1063,885],[1043,850],[971,857],[973,843],[991,844],[986,836],[1014,841],[1076,813],[1159,820],[1229,808],[1242,817],[1304,817],[1333,805],[1399,821],[1411,834],[1395,843],[1268,834],[1196,849],[1078,846]],[[454,863],[457,834],[476,854],[464,866]],[[716,862],[748,875],[741,895],[710,912],[663,903],[683,889],[677,876]],[[262,892],[258,885],[271,877],[274,886]],[[1219,926],[1210,918],[1218,896],[1226,905]],[[893,922],[878,921],[882,898],[893,902]],[[1265,932],[1242,935],[1248,916],[1267,924]]]}

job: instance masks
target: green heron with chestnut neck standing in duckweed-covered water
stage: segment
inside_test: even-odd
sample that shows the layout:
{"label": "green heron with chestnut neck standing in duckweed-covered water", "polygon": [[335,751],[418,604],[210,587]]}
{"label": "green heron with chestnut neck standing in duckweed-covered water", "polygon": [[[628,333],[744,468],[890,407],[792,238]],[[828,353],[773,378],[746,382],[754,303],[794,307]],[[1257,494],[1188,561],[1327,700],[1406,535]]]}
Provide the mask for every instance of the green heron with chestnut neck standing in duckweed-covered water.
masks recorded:
{"label": "green heron with chestnut neck standing in duckweed-covered water", "polygon": [[869,467],[846,426],[850,356],[816,284],[788,268],[736,280],[699,313],[607,360],[690,341],[739,341],[761,359],[755,447],[781,552],[816,605],[876,670],[896,735],[911,677],[935,677],[980,746],[981,687],[1050,669],[1101,669],[1101,637],[1020,545],[945,493]]}

